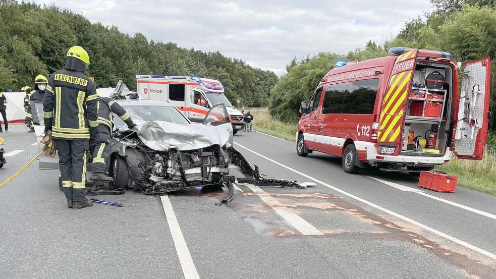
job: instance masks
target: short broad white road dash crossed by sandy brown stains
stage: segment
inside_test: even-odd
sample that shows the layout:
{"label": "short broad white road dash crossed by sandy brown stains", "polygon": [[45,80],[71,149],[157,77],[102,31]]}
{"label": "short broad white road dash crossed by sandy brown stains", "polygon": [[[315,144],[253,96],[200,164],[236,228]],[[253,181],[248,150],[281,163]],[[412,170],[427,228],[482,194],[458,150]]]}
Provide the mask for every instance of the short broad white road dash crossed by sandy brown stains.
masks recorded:
{"label": "short broad white road dash crossed by sandy brown stains", "polygon": [[313,227],[309,222],[305,221],[298,214],[291,212],[288,207],[284,206],[277,199],[268,195],[265,191],[260,189],[257,186],[251,184],[243,184],[246,187],[250,188],[261,200],[263,200],[266,204],[270,205],[272,209],[277,212],[281,217],[286,219],[291,226],[295,227],[300,233],[304,236],[323,236],[324,233],[317,230],[317,228]]}

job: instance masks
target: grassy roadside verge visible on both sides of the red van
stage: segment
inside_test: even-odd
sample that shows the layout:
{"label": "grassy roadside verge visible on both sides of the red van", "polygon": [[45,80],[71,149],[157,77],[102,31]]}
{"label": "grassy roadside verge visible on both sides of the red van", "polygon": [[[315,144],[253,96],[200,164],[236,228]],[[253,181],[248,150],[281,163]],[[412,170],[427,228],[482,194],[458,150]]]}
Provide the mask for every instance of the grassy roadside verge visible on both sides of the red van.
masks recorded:
{"label": "grassy roadside verge visible on both sides of the red van", "polygon": [[[254,110],[252,113],[253,128],[256,131],[296,141],[296,122],[283,123],[272,117],[267,110]],[[489,135],[487,143],[491,147],[485,151],[482,161],[462,160],[453,157],[451,162],[439,165],[436,169],[457,176],[457,185],[460,187],[496,196],[496,136]]]}

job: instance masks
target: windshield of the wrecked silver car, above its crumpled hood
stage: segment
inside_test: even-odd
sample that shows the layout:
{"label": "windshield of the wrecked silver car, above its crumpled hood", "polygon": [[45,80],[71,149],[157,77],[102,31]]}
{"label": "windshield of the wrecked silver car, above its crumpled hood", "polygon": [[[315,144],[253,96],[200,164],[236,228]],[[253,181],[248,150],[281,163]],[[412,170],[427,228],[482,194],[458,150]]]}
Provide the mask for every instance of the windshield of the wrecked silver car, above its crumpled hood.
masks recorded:
{"label": "windshield of the wrecked silver car, above its crumpled hood", "polygon": [[[189,124],[186,118],[173,106],[163,105],[123,105],[126,112],[137,125],[147,121],[167,121],[176,124]],[[117,115],[114,115],[114,124],[117,129],[126,128],[126,124]]]}

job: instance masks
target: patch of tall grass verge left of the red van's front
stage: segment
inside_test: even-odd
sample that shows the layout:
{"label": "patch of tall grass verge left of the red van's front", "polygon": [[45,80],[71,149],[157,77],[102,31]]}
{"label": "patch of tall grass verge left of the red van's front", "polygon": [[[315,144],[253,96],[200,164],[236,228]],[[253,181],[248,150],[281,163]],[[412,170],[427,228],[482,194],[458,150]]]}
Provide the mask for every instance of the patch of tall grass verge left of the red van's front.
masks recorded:
{"label": "patch of tall grass verge left of the red van's front", "polygon": [[253,129],[274,137],[296,141],[297,123],[283,123],[272,117],[267,110],[254,110]]}

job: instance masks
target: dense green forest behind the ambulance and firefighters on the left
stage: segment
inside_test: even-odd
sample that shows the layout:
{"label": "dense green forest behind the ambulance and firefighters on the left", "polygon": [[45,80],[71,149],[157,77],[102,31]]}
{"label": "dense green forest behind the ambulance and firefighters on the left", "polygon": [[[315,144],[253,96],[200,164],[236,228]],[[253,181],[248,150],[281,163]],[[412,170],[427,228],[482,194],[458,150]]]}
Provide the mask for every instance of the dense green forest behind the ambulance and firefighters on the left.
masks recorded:
{"label": "dense green forest behind the ambulance and firefighters on the left", "polygon": [[85,70],[97,87],[119,79],[136,88],[136,74],[200,76],[220,80],[226,95],[246,106],[264,106],[277,81],[271,72],[221,53],[155,42],[143,34],[124,34],[117,27],[92,24],[84,16],[56,6],[0,0],[0,91],[33,86],[64,66],[69,47],[81,45],[90,55]]}

